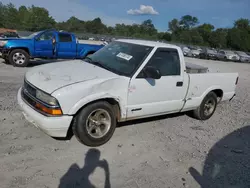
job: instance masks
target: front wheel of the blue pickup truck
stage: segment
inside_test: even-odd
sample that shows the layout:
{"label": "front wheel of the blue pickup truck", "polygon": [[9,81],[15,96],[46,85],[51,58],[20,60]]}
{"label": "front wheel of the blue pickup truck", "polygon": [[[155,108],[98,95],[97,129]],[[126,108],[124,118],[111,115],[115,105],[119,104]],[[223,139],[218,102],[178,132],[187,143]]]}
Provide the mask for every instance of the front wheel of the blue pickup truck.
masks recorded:
{"label": "front wheel of the blue pickup truck", "polygon": [[25,50],[15,49],[10,52],[9,62],[14,67],[27,67],[29,60],[29,54]]}

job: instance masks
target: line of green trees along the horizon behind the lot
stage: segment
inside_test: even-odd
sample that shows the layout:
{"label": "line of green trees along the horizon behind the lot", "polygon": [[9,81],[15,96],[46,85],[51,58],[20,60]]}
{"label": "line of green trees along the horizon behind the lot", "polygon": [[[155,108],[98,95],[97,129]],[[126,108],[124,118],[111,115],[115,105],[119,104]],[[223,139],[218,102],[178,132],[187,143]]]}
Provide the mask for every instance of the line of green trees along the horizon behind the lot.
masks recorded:
{"label": "line of green trees along the horizon behind the lot", "polygon": [[23,31],[56,28],[75,33],[108,34],[250,51],[250,20],[244,18],[236,20],[232,28],[215,29],[210,23],[200,24],[197,17],[185,15],[171,20],[168,31],[158,32],[150,19],[141,24],[117,23],[114,27],[102,23],[101,18],[83,21],[72,16],[67,21],[56,22],[43,7],[32,5],[17,8],[12,3],[5,5],[0,2],[0,27]]}

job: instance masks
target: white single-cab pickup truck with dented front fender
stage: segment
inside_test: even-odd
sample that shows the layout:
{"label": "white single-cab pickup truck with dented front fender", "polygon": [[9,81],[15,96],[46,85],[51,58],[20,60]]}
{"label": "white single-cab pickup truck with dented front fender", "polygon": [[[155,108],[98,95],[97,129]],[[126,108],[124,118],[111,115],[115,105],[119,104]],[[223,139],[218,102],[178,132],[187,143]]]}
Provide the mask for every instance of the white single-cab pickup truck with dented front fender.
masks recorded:
{"label": "white single-cab pickup truck with dented front fender", "polygon": [[116,40],[84,60],[30,69],[18,91],[27,120],[52,137],[73,130],[100,146],[117,122],[192,111],[209,119],[235,96],[238,73],[188,73],[181,49],[142,40]]}

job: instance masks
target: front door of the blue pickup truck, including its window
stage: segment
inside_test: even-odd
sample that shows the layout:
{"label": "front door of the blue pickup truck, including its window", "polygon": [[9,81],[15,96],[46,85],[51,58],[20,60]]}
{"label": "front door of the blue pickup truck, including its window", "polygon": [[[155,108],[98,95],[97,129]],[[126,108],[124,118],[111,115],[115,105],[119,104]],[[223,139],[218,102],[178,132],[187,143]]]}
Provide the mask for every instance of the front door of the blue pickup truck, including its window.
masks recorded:
{"label": "front door of the blue pickup truck, including its window", "polygon": [[47,31],[35,39],[35,57],[53,57],[53,36],[53,31]]}

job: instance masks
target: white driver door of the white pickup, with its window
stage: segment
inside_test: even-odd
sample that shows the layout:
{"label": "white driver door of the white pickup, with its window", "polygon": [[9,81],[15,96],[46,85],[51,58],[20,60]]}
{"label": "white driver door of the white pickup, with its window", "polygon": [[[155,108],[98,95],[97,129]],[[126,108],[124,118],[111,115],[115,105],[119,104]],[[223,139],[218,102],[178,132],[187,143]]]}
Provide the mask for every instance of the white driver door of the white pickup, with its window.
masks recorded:
{"label": "white driver door of the white pickup, with its window", "polygon": [[133,76],[129,85],[127,118],[179,112],[184,105],[188,79],[181,68],[178,51],[158,48],[146,66],[157,68],[162,77],[146,78],[143,71]]}

